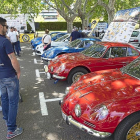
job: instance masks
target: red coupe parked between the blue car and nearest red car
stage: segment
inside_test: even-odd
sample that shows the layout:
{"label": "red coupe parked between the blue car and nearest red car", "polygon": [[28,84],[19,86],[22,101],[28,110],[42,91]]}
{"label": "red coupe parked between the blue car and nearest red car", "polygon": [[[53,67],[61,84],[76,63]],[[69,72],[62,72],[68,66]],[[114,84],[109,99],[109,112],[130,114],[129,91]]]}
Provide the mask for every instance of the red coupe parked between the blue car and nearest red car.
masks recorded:
{"label": "red coupe parked between the blue car and nearest red car", "polygon": [[55,57],[46,66],[46,74],[48,79],[67,80],[71,84],[83,74],[121,68],[138,56],[140,52],[130,44],[97,42],[80,53]]}

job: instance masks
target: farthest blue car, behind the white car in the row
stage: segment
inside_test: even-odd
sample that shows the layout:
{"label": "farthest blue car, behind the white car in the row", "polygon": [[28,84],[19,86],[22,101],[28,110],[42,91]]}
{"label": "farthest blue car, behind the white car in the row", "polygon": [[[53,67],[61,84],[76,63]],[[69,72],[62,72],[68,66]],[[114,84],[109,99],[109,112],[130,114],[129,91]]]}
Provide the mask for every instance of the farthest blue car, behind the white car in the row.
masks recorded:
{"label": "farthest blue car, behind the white car in the row", "polygon": [[[67,34],[67,33],[52,32],[52,33],[50,34],[51,40],[54,41],[54,40],[58,39],[59,37],[65,35],[65,34]],[[37,46],[37,45],[40,45],[41,43],[42,43],[42,37],[39,37],[39,39],[35,40],[31,45],[32,45],[33,49],[35,49],[36,46]]]}

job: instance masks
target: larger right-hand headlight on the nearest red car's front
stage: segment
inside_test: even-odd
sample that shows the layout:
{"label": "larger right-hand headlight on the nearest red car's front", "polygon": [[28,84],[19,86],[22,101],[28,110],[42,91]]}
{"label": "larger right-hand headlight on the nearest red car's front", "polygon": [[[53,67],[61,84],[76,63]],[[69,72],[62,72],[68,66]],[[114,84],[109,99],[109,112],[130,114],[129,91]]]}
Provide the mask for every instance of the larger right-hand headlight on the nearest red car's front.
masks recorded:
{"label": "larger right-hand headlight on the nearest red car's front", "polygon": [[97,106],[91,114],[91,119],[103,120],[108,115],[108,109],[105,105]]}

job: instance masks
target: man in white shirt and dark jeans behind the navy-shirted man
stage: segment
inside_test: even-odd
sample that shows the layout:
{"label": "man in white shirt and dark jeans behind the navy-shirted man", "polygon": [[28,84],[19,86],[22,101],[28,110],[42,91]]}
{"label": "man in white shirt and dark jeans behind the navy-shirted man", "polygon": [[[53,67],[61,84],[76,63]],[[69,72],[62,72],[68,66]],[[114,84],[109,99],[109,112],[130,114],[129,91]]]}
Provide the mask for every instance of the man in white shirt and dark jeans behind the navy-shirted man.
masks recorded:
{"label": "man in white shirt and dark jeans behind the navy-shirted man", "polygon": [[17,33],[14,31],[14,27],[10,28],[10,32],[8,32],[7,36],[8,36],[8,38],[10,39],[10,41],[12,43],[14,53],[16,51],[17,56],[20,56],[19,55],[18,44],[17,44]]}

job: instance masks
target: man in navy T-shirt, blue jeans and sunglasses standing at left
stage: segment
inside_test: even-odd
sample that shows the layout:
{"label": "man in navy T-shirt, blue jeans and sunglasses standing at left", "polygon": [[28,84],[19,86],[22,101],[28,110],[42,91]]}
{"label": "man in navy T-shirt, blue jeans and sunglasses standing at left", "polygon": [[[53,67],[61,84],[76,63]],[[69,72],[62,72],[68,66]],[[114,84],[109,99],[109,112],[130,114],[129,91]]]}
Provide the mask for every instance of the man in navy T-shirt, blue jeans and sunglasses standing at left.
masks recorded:
{"label": "man in navy T-shirt, blue jeans and sunglasses standing at left", "polygon": [[19,102],[20,66],[14,54],[11,42],[6,38],[8,26],[0,17],[0,92],[3,119],[7,125],[7,139],[23,132],[16,125]]}

